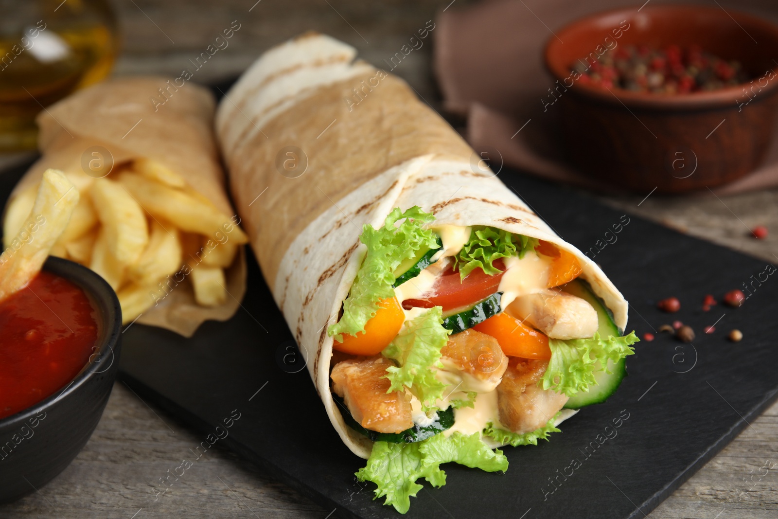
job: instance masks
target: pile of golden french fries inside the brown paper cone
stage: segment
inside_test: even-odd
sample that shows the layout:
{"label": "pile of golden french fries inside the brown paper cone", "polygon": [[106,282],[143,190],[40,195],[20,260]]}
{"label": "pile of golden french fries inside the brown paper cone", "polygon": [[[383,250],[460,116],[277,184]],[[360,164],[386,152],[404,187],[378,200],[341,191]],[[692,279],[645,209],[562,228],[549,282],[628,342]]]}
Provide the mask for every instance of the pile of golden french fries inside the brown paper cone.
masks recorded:
{"label": "pile of golden french fries inside the brown paper cone", "polygon": [[[198,304],[226,301],[224,269],[248,241],[236,216],[224,215],[180,174],[154,160],[133,160],[103,178],[81,171],[65,175],[80,198],[51,254],[100,274],[116,290],[125,324],[184,279]],[[30,186],[13,198],[3,223],[6,241],[30,215],[36,192],[37,186]]]}

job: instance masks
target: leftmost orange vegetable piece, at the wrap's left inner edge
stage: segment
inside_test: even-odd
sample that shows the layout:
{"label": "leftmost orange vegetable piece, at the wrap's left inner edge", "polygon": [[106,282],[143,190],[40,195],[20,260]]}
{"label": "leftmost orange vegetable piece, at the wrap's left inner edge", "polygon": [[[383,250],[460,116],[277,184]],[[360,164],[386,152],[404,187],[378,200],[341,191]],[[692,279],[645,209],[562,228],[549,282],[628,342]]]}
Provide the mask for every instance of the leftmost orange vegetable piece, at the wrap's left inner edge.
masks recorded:
{"label": "leftmost orange vegetable piece, at the wrap's left inner edge", "polygon": [[377,355],[389,345],[405,322],[405,312],[397,298],[380,300],[376,314],[365,324],[365,332],[356,335],[343,334],[343,342],[335,341],[333,349],[352,355]]}

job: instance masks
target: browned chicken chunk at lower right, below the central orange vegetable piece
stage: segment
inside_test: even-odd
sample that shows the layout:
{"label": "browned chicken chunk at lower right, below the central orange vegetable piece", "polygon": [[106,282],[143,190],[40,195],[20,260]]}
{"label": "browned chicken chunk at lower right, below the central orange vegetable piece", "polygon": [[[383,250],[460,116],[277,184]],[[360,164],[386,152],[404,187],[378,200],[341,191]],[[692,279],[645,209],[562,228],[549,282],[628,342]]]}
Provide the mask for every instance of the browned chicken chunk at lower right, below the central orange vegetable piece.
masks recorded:
{"label": "browned chicken chunk at lower right, below the central orange vegetable piece", "polygon": [[529,433],[545,426],[567,402],[565,395],[538,387],[548,360],[512,357],[497,386],[499,421],[514,433]]}

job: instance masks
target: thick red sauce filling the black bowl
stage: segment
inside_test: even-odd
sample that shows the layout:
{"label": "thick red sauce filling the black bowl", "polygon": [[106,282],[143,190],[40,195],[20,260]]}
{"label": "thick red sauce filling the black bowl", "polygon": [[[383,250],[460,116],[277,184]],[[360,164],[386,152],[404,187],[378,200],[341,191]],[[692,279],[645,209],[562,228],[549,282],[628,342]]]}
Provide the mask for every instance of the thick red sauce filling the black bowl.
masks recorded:
{"label": "thick red sauce filling the black bowl", "polygon": [[53,395],[86,366],[95,314],[82,289],[49,272],[0,303],[0,418]]}

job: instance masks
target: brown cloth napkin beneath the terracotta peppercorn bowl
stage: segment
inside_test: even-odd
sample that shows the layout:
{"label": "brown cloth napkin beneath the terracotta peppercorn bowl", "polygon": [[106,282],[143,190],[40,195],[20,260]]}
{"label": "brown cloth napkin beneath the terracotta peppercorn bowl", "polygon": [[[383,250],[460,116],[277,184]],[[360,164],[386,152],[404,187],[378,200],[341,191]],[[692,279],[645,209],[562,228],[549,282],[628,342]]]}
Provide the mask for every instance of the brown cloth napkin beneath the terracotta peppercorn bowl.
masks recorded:
{"label": "brown cloth napkin beneath the terracotta peppercorn bowl", "polygon": [[[668,3],[668,2],[663,2]],[[677,2],[674,2],[677,3]],[[688,2],[687,2],[688,3]],[[720,2],[778,20],[768,2]],[[495,0],[458,8],[436,20],[434,66],[443,105],[467,115],[467,139],[488,157],[493,170],[510,164],[527,173],[596,191],[614,191],[577,171],[566,160],[559,105],[545,103],[555,80],[546,72],[543,49],[554,31],[588,14],[640,2],[623,0]],[[730,195],[778,187],[778,133],[759,169],[718,188]]]}

